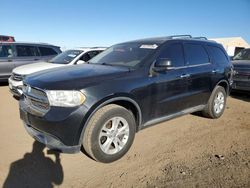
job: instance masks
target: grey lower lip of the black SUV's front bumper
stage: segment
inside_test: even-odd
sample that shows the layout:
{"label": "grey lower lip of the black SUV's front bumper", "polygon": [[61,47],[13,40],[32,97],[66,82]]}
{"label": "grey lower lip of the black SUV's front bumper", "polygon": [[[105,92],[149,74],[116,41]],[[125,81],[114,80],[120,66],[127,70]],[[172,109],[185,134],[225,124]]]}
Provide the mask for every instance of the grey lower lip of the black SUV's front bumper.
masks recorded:
{"label": "grey lower lip of the black SUV's front bumper", "polygon": [[50,149],[55,149],[63,153],[78,153],[81,149],[80,145],[66,146],[58,138],[48,133],[38,131],[25,123],[24,127],[30,136],[32,136],[38,142],[45,144]]}

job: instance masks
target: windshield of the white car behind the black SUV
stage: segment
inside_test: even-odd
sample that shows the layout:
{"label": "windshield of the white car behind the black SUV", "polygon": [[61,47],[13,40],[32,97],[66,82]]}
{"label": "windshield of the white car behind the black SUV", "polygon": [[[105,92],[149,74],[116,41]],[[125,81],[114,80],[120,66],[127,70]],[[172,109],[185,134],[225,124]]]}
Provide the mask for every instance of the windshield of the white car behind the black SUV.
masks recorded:
{"label": "windshield of the white car behind the black SUV", "polygon": [[83,52],[82,50],[67,50],[55,56],[49,62],[56,63],[56,64],[69,64],[82,52]]}

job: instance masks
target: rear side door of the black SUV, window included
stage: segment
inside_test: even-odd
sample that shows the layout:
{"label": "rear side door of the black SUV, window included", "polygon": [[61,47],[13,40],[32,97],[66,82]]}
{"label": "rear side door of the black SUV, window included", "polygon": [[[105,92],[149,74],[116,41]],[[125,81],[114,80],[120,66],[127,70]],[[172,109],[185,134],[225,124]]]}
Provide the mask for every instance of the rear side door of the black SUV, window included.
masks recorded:
{"label": "rear side door of the black SUV, window included", "polygon": [[205,46],[200,43],[184,43],[188,79],[188,108],[206,104],[211,94],[214,65]]}

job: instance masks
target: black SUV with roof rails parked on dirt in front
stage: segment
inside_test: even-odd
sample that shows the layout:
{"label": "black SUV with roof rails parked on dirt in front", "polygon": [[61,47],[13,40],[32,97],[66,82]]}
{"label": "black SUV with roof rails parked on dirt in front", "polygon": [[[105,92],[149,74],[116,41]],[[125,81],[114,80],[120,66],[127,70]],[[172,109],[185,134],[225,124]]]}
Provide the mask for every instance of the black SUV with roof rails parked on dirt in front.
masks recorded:
{"label": "black SUV with roof rails parked on dirt in front", "polygon": [[82,149],[100,162],[121,158],[135,133],[202,111],[219,118],[232,66],[220,44],[191,36],[114,45],[83,65],[25,78],[20,115],[28,133],[52,149]]}

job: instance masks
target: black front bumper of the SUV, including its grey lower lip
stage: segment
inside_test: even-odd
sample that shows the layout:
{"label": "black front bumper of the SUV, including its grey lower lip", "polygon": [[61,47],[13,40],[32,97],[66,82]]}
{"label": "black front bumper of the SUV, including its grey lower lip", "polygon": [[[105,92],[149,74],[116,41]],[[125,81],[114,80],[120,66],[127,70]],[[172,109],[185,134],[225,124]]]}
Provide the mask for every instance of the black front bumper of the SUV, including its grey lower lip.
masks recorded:
{"label": "black front bumper of the SUV, including its grey lower lip", "polygon": [[84,105],[74,108],[50,107],[45,115],[38,116],[22,97],[19,108],[27,132],[37,141],[65,153],[80,151],[80,136],[88,112]]}

